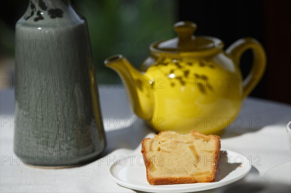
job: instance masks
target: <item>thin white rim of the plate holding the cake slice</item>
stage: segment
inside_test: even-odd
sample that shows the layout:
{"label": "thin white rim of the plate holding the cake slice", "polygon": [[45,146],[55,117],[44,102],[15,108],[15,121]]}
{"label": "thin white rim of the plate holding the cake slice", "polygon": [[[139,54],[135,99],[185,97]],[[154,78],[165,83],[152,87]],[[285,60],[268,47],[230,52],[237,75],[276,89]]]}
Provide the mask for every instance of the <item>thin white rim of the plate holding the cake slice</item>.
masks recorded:
{"label": "thin white rim of the plate holding the cake slice", "polygon": [[[237,154],[238,156],[242,156],[243,160],[246,160],[248,161],[248,159],[246,157],[244,157],[243,155],[237,153],[237,152],[234,152],[234,151],[231,151],[231,150],[223,150],[221,149],[221,151],[226,151],[227,154]],[[127,155],[126,157],[128,156],[133,156],[133,155],[142,155],[141,153],[132,153],[130,155]],[[214,188],[219,188],[219,187],[222,187],[222,186],[226,186],[228,184],[231,184],[235,181],[238,181],[239,179],[245,177],[249,171],[251,170],[252,166],[248,163],[243,163],[243,165],[248,165],[247,168],[245,168],[245,170],[242,172],[242,175],[240,176],[237,176],[236,178],[231,178],[227,181],[222,181],[222,182],[208,182],[208,183],[199,183],[200,186],[198,185],[198,183],[193,183],[193,184],[187,184],[189,186],[187,187],[175,187],[177,185],[186,185],[186,184],[173,184],[173,185],[155,185],[153,187],[145,187],[145,186],[140,186],[140,185],[135,185],[135,184],[132,184],[132,183],[129,183],[129,182],[125,182],[125,181],[122,181],[118,178],[115,178],[115,175],[113,174],[113,168],[114,167],[118,167],[115,165],[115,163],[113,163],[110,167],[109,167],[109,175],[111,178],[113,178],[113,180],[119,184],[119,185],[122,185],[126,188],[129,188],[129,189],[132,189],[132,190],[137,190],[137,191],[144,191],[144,192],[151,192],[151,193],[164,193],[164,192],[176,192],[176,193],[187,193],[187,192],[197,192],[197,191],[204,191],[204,190],[210,190],[210,189],[214,189]],[[124,167],[124,166],[120,166],[120,167]],[[227,177],[227,176],[226,176]],[[225,178],[226,178],[225,177]]]}

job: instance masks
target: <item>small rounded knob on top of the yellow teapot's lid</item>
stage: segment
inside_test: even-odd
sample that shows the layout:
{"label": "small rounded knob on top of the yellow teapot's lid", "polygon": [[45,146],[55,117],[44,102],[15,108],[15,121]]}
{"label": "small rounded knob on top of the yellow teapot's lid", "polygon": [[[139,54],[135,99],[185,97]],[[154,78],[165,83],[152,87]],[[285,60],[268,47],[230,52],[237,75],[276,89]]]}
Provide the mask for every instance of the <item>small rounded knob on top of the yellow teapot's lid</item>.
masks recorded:
{"label": "small rounded knob on top of the yellow teapot's lid", "polygon": [[192,39],[192,35],[196,29],[196,24],[191,21],[179,21],[174,25],[174,30],[178,33],[180,40]]}

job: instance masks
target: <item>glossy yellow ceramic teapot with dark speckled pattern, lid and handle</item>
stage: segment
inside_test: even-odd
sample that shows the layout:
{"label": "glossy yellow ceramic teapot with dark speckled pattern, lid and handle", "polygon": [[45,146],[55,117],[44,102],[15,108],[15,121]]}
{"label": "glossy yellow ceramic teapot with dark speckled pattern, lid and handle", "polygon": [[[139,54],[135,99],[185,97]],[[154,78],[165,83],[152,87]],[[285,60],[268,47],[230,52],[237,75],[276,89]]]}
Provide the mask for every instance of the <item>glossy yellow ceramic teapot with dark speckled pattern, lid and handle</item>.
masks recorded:
{"label": "glossy yellow ceramic teapot with dark speckled pattern, lid and handle", "polygon": [[[264,49],[257,40],[242,38],[224,51],[221,40],[194,36],[196,25],[190,21],[178,22],[174,29],[178,37],[150,46],[141,71],[121,55],[104,63],[124,80],[135,114],[156,131],[221,134],[262,77]],[[254,61],[242,80],[240,58],[247,49]]]}

